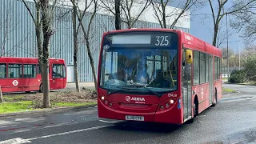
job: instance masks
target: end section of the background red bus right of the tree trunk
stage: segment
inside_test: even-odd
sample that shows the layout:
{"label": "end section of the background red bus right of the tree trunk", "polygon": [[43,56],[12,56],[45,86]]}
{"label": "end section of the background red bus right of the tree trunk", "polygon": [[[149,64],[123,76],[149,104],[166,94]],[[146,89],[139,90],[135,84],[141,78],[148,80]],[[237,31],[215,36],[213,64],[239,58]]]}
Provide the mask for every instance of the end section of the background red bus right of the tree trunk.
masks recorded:
{"label": "end section of the background red bus right of the tree trunk", "polygon": [[62,89],[66,77],[65,66],[63,64],[53,64],[50,70],[50,90]]}

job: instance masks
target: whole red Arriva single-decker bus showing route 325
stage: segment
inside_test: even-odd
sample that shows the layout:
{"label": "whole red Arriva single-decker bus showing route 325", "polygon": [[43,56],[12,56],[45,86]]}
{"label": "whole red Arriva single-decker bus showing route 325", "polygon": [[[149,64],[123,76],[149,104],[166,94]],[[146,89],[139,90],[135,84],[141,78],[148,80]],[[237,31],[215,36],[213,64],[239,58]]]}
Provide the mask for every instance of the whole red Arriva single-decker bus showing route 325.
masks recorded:
{"label": "whole red Arriva single-decker bus showing route 325", "polygon": [[106,32],[98,117],[182,124],[222,97],[222,51],[182,30]]}

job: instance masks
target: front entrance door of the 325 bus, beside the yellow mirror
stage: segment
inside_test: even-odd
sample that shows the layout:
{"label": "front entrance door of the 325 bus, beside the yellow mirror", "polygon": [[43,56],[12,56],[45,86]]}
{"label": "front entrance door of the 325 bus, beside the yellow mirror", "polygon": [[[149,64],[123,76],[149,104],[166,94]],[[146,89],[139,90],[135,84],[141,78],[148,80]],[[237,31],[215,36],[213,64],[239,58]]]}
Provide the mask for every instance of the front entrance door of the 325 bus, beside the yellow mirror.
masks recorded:
{"label": "front entrance door of the 325 bus, beside the yellow mirror", "polygon": [[186,49],[182,50],[182,104],[183,121],[192,115],[191,101],[191,63],[186,62]]}

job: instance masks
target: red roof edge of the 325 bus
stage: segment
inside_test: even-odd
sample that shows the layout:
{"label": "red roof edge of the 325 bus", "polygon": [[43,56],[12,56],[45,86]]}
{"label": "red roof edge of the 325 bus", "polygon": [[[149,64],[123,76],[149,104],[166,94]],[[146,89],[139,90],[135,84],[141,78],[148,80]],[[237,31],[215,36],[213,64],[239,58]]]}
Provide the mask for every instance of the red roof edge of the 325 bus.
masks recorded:
{"label": "red roof edge of the 325 bus", "polygon": [[106,36],[106,34],[115,34],[115,33],[125,33],[130,31],[162,31],[162,32],[174,32],[178,34],[179,38],[182,39],[182,43],[185,44],[185,47],[191,48],[193,50],[200,50],[202,52],[208,53],[208,54],[214,54],[218,57],[222,57],[222,50],[218,49],[216,46],[212,46],[209,43],[203,41],[200,38],[196,38],[191,34],[188,34],[182,30],[174,30],[174,29],[152,29],[152,28],[139,28],[139,29],[123,29],[123,30],[112,30],[105,32],[103,34],[103,38]]}

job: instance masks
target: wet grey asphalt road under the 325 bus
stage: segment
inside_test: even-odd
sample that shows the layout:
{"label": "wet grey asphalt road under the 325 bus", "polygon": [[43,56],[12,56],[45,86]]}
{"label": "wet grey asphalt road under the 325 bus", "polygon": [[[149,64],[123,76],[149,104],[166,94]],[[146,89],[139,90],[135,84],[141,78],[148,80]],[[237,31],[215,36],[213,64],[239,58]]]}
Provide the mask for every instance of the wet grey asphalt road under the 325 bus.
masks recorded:
{"label": "wet grey asphalt road under the 325 bus", "polygon": [[256,143],[256,86],[223,84],[224,94],[182,126],[100,119],[97,107],[0,120],[2,143]]}

